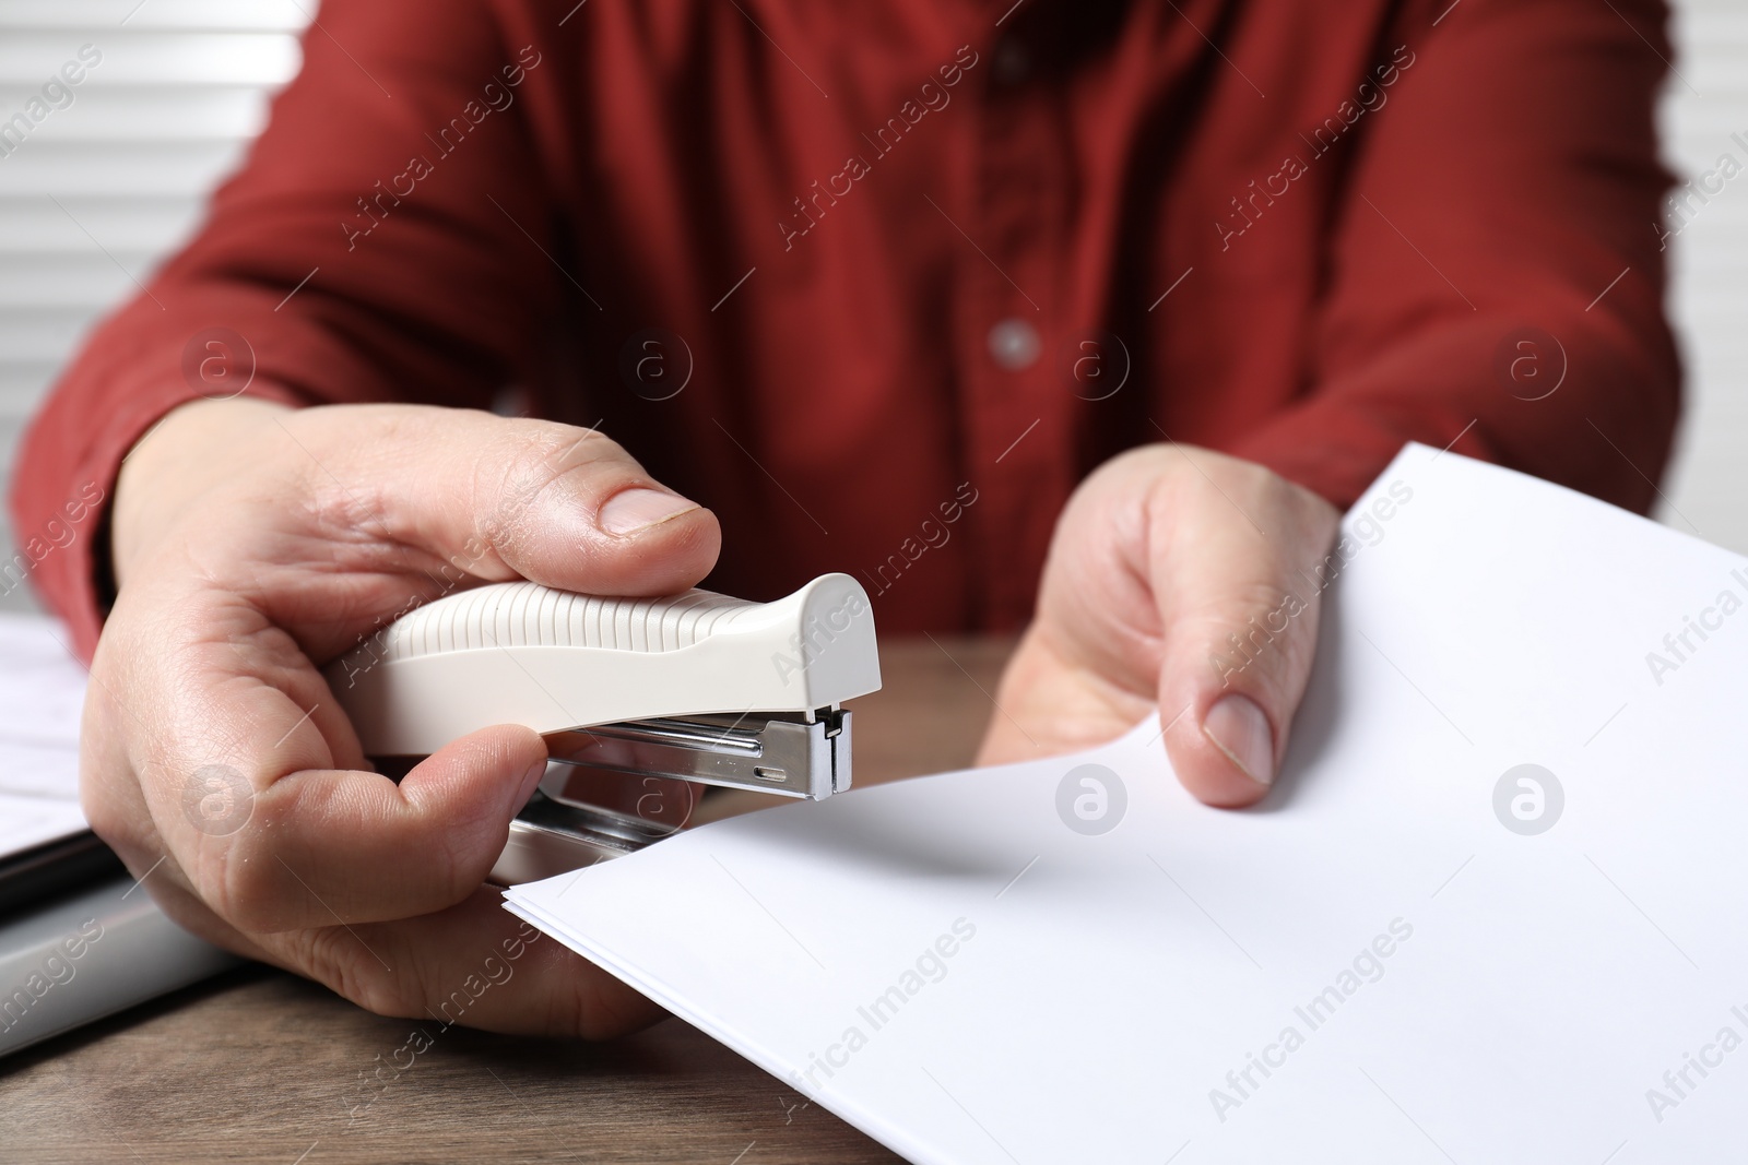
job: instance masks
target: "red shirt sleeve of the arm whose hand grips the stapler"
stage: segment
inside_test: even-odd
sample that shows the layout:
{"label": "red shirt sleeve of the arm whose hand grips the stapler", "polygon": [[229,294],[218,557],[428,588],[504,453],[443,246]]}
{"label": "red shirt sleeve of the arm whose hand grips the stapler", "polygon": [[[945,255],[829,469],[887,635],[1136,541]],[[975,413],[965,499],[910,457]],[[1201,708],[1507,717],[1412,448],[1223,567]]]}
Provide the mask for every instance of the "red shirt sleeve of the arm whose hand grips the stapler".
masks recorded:
{"label": "red shirt sleeve of the arm whose hand grips the stapler", "polygon": [[31,569],[84,658],[103,618],[101,508],[170,409],[239,391],[484,405],[540,351],[563,278],[535,147],[552,133],[552,45],[479,0],[329,0],[302,45],[201,232],[94,330],[24,438],[19,545],[75,508],[84,520]]}

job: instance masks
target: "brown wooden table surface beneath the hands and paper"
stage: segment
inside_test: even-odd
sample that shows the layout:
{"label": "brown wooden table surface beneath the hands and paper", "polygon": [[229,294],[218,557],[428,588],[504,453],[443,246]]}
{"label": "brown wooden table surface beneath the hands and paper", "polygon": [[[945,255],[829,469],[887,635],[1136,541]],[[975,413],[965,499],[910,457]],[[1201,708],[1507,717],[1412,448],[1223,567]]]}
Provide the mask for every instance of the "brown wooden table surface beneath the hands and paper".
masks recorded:
{"label": "brown wooden table surface beneath the hands and paper", "polygon": [[[858,782],[958,769],[1010,643],[888,645]],[[248,968],[0,1060],[0,1162],[897,1162],[697,1029],[587,1044],[453,1029],[353,1121],[407,1020]]]}

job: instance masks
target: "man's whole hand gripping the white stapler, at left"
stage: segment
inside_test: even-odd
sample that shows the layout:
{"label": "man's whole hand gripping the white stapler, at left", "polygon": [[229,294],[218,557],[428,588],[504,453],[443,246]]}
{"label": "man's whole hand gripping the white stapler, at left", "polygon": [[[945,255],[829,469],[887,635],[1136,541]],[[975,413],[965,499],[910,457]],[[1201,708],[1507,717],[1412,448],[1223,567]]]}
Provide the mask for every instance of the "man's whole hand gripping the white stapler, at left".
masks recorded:
{"label": "man's whole hand gripping the white stapler, at left", "polygon": [[[718,545],[708,510],[591,430],[184,405],[117,482],[86,814],[182,926],[372,1011],[558,1036],[649,1022],[654,1004],[558,943],[524,950],[482,886],[544,770],[540,737],[484,728],[397,784],[369,769],[320,665],[447,590],[673,594]],[[503,966],[514,990],[465,990]]]}

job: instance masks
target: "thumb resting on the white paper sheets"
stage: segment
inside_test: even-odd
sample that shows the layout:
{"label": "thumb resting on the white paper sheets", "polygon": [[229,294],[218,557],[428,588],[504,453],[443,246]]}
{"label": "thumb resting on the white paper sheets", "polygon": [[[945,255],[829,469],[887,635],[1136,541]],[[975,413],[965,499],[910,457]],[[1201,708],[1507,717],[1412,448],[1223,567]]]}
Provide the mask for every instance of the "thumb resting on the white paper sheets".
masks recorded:
{"label": "thumb resting on the white paper sheets", "polygon": [[1339,568],[1325,557],[1337,524],[1316,494],[1248,475],[1203,505],[1180,498],[1171,527],[1155,529],[1159,713],[1171,767],[1197,800],[1250,805],[1274,781],[1311,676],[1321,587]]}

